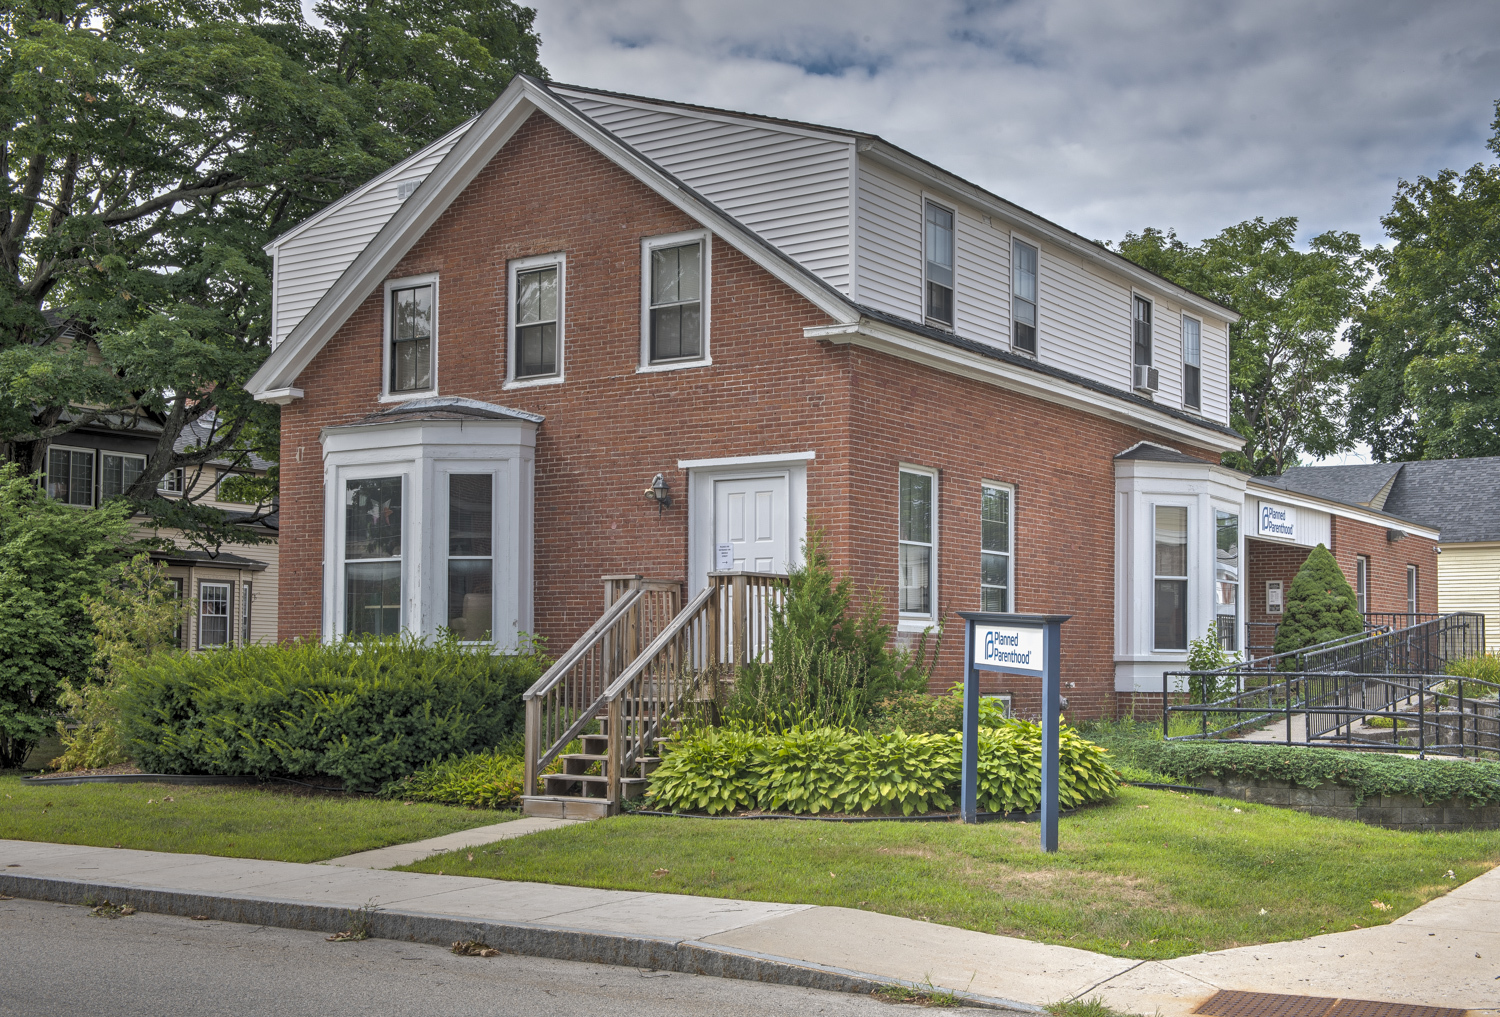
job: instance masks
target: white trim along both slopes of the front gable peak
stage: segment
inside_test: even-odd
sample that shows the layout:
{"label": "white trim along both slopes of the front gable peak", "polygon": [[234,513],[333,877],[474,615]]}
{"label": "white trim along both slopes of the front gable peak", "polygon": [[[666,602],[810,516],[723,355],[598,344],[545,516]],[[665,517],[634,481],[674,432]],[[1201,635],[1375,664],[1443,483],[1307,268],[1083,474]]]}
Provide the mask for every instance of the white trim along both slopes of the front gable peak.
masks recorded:
{"label": "white trim along both slopes of the front gable peak", "polygon": [[333,333],[348,321],[422,236],[432,228],[459,194],[489,165],[526,118],[542,111],[592,146],[606,159],[621,166],[688,216],[708,226],[759,267],[789,285],[836,321],[858,321],[858,312],[846,297],[788,255],[758,237],[706,200],[668,176],[660,166],[640,156],[597,123],[525,75],[516,75],[510,87],[482,112],[453,148],[434,166],[416,194],[406,198],[374,240],[344,270],[344,274],[314,304],[296,328],[261,369],[246,382],[256,399],[278,388],[290,388],[306,370]]}

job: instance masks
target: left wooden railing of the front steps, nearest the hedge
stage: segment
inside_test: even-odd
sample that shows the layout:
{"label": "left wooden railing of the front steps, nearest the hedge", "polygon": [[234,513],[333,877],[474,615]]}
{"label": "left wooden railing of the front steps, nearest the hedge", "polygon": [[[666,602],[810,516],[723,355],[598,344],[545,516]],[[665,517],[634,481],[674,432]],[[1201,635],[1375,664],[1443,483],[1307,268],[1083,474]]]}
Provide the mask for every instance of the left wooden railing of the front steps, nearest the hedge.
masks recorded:
{"label": "left wooden railing of the front steps, nearest the hedge", "polygon": [[525,788],[579,736],[603,693],[640,646],[681,614],[682,585],[644,576],[603,576],[604,614],[522,696],[526,711]]}

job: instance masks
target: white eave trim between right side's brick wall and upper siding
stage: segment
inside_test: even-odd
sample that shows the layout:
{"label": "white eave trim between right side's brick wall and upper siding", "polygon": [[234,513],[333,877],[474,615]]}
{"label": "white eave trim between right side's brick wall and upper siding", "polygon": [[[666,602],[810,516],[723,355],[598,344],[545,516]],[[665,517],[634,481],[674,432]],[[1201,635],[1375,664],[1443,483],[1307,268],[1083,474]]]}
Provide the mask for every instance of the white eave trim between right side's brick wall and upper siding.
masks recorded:
{"label": "white eave trim between right side's brick wall and upper siding", "polygon": [[880,321],[864,318],[850,326],[814,326],[802,328],[808,339],[825,339],[836,344],[849,344],[866,350],[927,364],[938,370],[974,378],[992,386],[1004,386],[1011,392],[1020,392],[1036,399],[1046,399],[1096,417],[1108,417],[1130,424],[1137,430],[1150,430],[1178,441],[1191,441],[1200,447],[1215,452],[1234,452],[1244,446],[1244,440],[1226,435],[1209,428],[1198,428],[1186,420],[1178,420],[1166,414],[1152,414],[1143,406],[1136,406],[1118,396],[1095,392],[1082,384],[1074,384],[1065,378],[1053,378],[1035,370],[1018,368],[1004,360],[990,360],[976,352],[950,346],[926,336],[888,326]]}

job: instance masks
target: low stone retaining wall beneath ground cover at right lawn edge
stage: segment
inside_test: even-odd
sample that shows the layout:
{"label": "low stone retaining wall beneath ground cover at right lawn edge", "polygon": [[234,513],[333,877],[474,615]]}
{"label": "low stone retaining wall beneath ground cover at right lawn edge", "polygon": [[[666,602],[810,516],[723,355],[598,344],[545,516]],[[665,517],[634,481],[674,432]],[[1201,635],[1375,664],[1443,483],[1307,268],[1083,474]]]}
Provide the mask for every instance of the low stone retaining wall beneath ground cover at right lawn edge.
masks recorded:
{"label": "low stone retaining wall beneath ground cover at right lawn edge", "polygon": [[1206,776],[1192,783],[1212,788],[1214,794],[1224,798],[1281,806],[1312,816],[1352,819],[1390,830],[1500,830],[1500,806],[1472,807],[1462,798],[1424,804],[1414,795],[1371,795],[1364,804],[1356,806],[1353,788],[1342,784],[1304,788],[1288,780]]}

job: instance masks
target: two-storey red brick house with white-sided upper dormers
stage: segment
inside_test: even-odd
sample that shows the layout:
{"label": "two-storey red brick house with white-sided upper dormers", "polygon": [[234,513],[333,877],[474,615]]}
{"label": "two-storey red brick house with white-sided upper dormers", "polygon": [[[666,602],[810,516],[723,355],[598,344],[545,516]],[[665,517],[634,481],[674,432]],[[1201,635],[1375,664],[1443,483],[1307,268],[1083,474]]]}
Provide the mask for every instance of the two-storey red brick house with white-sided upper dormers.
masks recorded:
{"label": "two-storey red brick house with white-sided upper dormers", "polygon": [[1234,314],[873,135],[520,76],[270,250],[284,639],[561,651],[818,526],[902,639],[1071,614],[1077,716],[1244,645]]}

